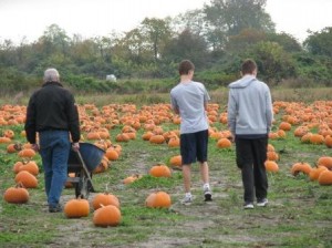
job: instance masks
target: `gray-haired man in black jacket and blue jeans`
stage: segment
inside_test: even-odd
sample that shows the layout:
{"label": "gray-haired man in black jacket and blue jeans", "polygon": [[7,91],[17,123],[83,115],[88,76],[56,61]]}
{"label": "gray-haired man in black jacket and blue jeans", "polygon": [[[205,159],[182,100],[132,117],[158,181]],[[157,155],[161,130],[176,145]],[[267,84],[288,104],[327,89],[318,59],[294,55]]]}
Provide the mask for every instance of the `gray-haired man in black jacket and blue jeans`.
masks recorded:
{"label": "gray-haired man in black jacket and blue jeans", "polygon": [[49,211],[62,211],[60,197],[68,177],[70,138],[72,148],[79,149],[81,135],[75,100],[60,83],[55,69],[44,72],[42,87],[31,95],[24,128],[28,142],[42,157]]}

